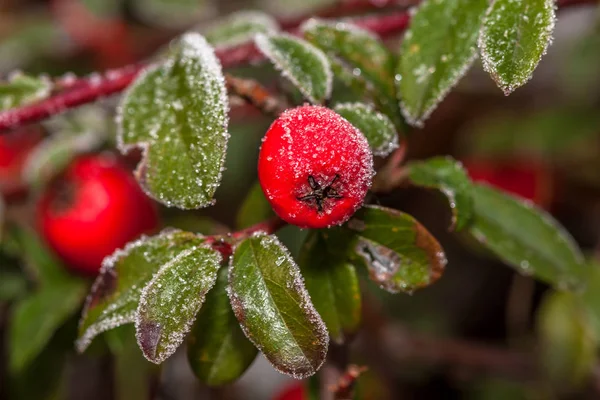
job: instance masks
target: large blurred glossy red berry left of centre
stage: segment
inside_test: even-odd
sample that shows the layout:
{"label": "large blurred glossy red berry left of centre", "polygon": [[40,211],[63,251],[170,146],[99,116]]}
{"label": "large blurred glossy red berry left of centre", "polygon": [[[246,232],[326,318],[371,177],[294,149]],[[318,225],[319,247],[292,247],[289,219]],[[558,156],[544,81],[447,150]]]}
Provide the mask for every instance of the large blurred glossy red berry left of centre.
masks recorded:
{"label": "large blurred glossy red berry left of centre", "polygon": [[41,196],[40,230],[76,272],[96,274],[102,260],[158,226],[154,203],[112,156],[76,159]]}

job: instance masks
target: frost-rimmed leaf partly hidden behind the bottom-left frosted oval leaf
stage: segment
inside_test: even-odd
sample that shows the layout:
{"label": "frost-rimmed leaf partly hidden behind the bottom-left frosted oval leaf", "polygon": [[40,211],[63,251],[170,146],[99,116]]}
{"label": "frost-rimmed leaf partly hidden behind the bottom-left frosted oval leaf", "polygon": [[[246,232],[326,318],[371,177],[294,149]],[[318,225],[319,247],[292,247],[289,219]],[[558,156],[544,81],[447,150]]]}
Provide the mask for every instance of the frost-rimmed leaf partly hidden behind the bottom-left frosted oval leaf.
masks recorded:
{"label": "frost-rimmed leaf partly hidden behind the bottom-left frosted oval leaf", "polygon": [[[140,247],[143,247],[143,246],[147,246],[148,243],[151,242],[152,240],[156,240],[156,241],[171,240],[171,241],[173,241],[175,239],[176,235],[182,235],[182,237],[181,237],[182,242],[180,242],[180,243],[178,242],[176,244],[176,246],[182,246],[182,245],[187,244],[188,242],[191,243],[192,240],[198,240],[197,244],[200,245],[203,240],[202,237],[199,237],[193,233],[184,232],[184,231],[180,231],[177,229],[165,229],[162,232],[160,232],[158,235],[155,235],[155,236],[149,237],[146,235],[142,235],[138,240],[128,243],[123,249],[117,249],[117,250],[115,250],[115,252],[113,254],[104,258],[104,260],[102,261],[102,267],[100,269],[100,272],[99,272],[98,276],[96,277],[96,280],[92,284],[92,288],[90,289],[90,292],[86,298],[85,304],[83,306],[83,311],[81,313],[81,319],[79,321],[78,338],[75,342],[75,348],[79,353],[83,353],[88,348],[88,346],[91,344],[92,340],[96,336],[101,334],[102,332],[106,332],[113,328],[117,328],[121,325],[135,323],[135,314],[136,314],[139,298],[141,296],[141,291],[142,291],[143,287],[140,287],[140,288],[130,287],[129,288],[130,290],[131,289],[137,290],[138,293],[134,293],[135,299],[133,299],[133,301],[135,304],[133,307],[131,307],[131,310],[127,314],[112,315],[112,313],[115,311],[115,308],[117,308],[117,307],[113,306],[113,308],[110,309],[110,307],[107,306],[97,316],[97,318],[93,322],[87,323],[87,318],[89,316],[90,308],[92,307],[93,301],[97,300],[96,294],[102,288],[102,285],[107,285],[107,284],[112,285],[114,283],[114,282],[106,283],[106,279],[118,279],[118,276],[115,276],[116,273],[113,272],[117,266],[117,263],[120,260],[122,260],[123,258],[128,257],[134,250],[136,250]],[[186,236],[185,241],[183,241],[183,239],[184,239],[183,236]],[[152,271],[150,271],[150,273],[145,274],[141,280],[144,283],[149,282],[152,279],[152,276],[159,270],[159,268],[160,268],[160,265],[154,266],[154,269]],[[122,298],[123,295],[121,295],[119,297]],[[100,296],[100,298],[102,298],[102,296]],[[128,301],[127,299],[125,299],[124,304],[127,304],[127,303],[131,303],[131,301]],[[111,304],[114,305],[115,303],[113,302]],[[130,304],[130,305],[133,305],[133,304]],[[121,304],[121,307],[122,306],[123,306],[123,304]],[[106,314],[108,314],[108,318],[106,318]],[[104,316],[104,319],[101,319],[101,317],[103,317],[103,316]],[[98,320],[100,322],[98,322]]]}

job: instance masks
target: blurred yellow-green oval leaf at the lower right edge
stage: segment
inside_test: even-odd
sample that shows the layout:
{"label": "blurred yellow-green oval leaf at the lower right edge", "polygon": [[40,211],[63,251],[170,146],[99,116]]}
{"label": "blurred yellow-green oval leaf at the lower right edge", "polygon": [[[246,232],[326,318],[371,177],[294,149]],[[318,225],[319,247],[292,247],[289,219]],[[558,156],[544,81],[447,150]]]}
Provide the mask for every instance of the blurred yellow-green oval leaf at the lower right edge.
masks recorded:
{"label": "blurred yellow-green oval leaf at the lower right edge", "polygon": [[586,382],[596,365],[598,337],[582,302],[572,293],[550,292],[537,321],[541,366],[559,390]]}

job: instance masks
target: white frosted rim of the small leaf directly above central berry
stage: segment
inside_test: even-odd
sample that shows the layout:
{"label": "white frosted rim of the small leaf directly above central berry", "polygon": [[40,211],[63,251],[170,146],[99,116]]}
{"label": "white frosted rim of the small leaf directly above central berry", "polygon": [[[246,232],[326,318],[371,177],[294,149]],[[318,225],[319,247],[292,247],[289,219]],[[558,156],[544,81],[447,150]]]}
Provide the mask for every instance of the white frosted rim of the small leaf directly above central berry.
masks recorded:
{"label": "white frosted rim of the small leaf directly above central berry", "polygon": [[[310,83],[310,88],[306,87],[303,83],[300,83],[302,79],[294,75],[291,65],[289,65],[287,63],[287,60],[284,59],[281,51],[277,51],[277,49],[273,45],[273,39],[284,39],[288,40],[289,42],[293,42],[294,44],[301,45],[307,52],[312,53],[314,55],[313,60],[321,64],[322,72],[325,75],[325,92],[323,93],[322,97],[315,97],[314,90],[311,90],[316,86],[314,84],[315,80],[312,79],[311,75],[307,75],[305,77],[312,81],[312,83]],[[259,33],[258,35],[256,35],[254,41],[256,43],[256,47],[261,51],[261,53],[263,53],[269,60],[271,60],[275,68],[281,71],[282,75],[286,77],[290,82],[292,82],[292,84],[298,90],[300,90],[302,95],[311,103],[322,104],[323,101],[331,97],[331,90],[333,87],[333,73],[331,72],[331,64],[329,63],[329,59],[321,49],[303,39],[283,33],[277,35],[265,35]]]}

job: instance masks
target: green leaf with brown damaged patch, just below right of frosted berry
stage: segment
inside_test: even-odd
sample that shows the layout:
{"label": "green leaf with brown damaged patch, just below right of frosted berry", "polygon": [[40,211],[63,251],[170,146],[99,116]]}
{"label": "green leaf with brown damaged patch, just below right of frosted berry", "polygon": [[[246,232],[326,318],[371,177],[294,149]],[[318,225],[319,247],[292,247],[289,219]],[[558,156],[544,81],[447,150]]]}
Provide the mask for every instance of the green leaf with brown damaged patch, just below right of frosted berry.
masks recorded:
{"label": "green leaf with brown damaged patch, just below right of frosted berry", "polygon": [[354,252],[382,289],[412,293],[431,285],[446,267],[438,241],[408,214],[378,206],[360,209],[346,224],[357,239]]}

